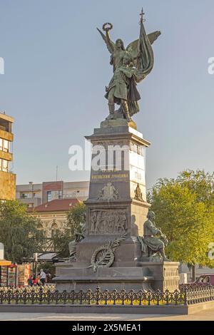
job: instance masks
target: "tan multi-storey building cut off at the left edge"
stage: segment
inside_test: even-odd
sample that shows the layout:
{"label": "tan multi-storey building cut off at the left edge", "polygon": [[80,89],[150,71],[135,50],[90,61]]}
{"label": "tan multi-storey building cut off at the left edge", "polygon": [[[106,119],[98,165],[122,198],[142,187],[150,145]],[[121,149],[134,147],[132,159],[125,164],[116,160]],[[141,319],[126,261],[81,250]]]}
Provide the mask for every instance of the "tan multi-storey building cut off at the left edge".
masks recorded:
{"label": "tan multi-storey building cut off at the left edge", "polygon": [[16,175],[11,172],[14,118],[0,113],[0,200],[16,199]]}

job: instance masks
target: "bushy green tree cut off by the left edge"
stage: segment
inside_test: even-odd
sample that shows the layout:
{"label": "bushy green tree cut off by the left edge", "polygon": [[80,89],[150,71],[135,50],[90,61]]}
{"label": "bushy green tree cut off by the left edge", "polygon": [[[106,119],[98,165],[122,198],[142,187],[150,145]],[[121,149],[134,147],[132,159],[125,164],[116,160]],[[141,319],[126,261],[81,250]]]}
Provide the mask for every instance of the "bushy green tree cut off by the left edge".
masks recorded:
{"label": "bushy green tree cut off by the left edge", "polygon": [[17,201],[0,202],[0,241],[5,258],[22,263],[41,250],[43,232],[37,230],[39,220],[26,212]]}

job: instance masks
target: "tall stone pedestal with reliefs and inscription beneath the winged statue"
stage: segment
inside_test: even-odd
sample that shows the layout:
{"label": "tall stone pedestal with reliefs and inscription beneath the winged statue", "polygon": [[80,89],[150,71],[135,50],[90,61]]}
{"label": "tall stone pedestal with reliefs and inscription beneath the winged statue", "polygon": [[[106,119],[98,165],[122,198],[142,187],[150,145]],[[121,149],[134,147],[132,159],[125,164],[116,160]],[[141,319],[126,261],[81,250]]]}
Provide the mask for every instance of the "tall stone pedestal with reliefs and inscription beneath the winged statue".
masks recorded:
{"label": "tall stone pedestal with reliefs and inscription beneath the winged statue", "polygon": [[59,291],[178,289],[178,263],[142,262],[138,236],[150,207],[145,181],[150,143],[129,125],[106,120],[86,137],[93,145],[86,237],[76,246],[75,262],[56,264]]}

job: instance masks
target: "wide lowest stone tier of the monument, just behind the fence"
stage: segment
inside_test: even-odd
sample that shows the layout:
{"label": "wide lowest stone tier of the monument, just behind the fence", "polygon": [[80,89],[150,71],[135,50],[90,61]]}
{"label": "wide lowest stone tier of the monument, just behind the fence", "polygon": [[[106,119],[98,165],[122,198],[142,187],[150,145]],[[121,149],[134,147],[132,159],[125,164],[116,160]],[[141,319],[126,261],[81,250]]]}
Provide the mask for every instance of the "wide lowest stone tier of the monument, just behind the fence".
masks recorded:
{"label": "wide lowest stone tier of the monument, just behind the fence", "polygon": [[56,289],[62,292],[66,290],[76,292],[91,289],[95,291],[97,287],[101,290],[113,291],[156,291],[160,289],[170,292],[178,289],[178,262],[138,262],[135,267],[110,267],[98,268],[93,272],[89,267],[77,267],[75,262],[56,264]]}

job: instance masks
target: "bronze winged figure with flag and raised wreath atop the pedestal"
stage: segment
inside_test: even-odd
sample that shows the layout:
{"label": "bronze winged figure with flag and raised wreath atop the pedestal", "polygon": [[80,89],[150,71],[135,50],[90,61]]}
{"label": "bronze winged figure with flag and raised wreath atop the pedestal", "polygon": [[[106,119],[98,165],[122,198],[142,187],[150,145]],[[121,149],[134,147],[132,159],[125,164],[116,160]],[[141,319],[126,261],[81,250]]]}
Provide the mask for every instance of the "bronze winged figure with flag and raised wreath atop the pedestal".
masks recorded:
{"label": "bronze winged figure with flag and raised wreath atop the pedestal", "polygon": [[138,113],[138,100],[141,99],[136,88],[137,83],[143,81],[151,73],[154,65],[153,49],[151,44],[161,35],[160,31],[146,34],[143,26],[143,10],[141,11],[141,31],[136,41],[133,41],[125,48],[121,38],[113,43],[109,31],[112,24],[103,24],[103,31],[98,29],[106,43],[108,51],[111,53],[110,64],[113,66],[113,78],[106,87],[106,98],[108,99],[108,118],[116,118],[115,103],[121,105],[120,111],[123,117],[131,120],[131,116]]}

